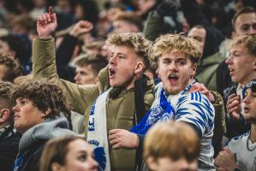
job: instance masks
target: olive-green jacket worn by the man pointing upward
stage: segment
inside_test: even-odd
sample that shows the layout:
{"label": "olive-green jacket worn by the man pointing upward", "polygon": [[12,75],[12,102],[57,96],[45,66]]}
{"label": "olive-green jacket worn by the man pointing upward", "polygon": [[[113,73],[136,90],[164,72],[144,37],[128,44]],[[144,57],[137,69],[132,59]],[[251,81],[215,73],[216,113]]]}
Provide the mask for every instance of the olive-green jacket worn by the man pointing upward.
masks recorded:
{"label": "olive-green jacket worn by the man pointing upward", "polygon": [[[86,126],[92,103],[107,85],[106,68],[99,74],[98,85],[76,85],[57,76],[54,39],[33,41],[33,77],[48,78],[61,86],[73,110],[85,114]],[[148,81],[145,93],[145,108],[150,109],[153,101],[153,82]],[[106,104],[107,130],[114,128],[129,130],[134,126],[134,90],[114,89]],[[87,129],[86,129],[87,130]],[[113,150],[110,146],[111,170],[134,170],[135,150]]]}

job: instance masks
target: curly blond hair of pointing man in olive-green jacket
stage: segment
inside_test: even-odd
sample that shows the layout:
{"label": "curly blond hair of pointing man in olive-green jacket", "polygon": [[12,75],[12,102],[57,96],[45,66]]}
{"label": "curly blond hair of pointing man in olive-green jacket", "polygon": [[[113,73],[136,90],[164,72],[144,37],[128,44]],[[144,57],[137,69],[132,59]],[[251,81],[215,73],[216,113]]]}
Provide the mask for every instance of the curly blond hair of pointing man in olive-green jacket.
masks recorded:
{"label": "curly blond hair of pointing man in olive-green jacket", "polygon": [[137,56],[143,58],[144,70],[149,66],[149,56],[152,50],[152,42],[147,40],[142,33],[113,33],[107,39],[107,43],[116,46],[126,46],[135,50]]}

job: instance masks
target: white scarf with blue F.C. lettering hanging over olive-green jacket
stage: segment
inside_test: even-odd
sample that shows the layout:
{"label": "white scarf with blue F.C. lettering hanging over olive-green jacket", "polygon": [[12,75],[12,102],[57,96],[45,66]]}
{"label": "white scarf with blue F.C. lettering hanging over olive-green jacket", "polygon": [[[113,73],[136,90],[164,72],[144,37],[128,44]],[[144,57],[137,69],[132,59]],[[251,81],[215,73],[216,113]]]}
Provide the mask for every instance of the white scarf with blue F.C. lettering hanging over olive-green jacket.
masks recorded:
{"label": "white scarf with blue F.C. lettering hanging over olive-green jacket", "polygon": [[110,171],[109,142],[106,123],[106,102],[109,92],[101,94],[92,105],[89,116],[87,142],[94,150],[95,159],[98,162],[98,169]]}

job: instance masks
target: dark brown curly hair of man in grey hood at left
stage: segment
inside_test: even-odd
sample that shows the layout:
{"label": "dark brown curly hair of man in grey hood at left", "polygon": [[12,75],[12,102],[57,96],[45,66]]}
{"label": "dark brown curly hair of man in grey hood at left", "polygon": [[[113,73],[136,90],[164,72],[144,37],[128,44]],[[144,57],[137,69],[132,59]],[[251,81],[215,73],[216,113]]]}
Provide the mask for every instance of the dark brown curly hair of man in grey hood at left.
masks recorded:
{"label": "dark brown curly hair of man in grey hood at left", "polygon": [[14,99],[27,98],[42,112],[51,110],[48,118],[54,118],[63,112],[70,119],[69,105],[63,96],[62,89],[50,80],[29,80],[18,86]]}

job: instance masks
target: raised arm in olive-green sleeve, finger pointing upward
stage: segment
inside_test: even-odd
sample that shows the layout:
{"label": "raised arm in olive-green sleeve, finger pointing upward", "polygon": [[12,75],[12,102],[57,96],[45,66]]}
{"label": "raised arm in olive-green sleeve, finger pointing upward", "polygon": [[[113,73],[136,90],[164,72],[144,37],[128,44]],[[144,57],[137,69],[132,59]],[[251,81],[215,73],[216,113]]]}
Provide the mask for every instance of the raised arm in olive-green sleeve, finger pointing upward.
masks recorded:
{"label": "raised arm in olive-green sleeve, finger pointing upward", "polygon": [[33,41],[33,76],[36,79],[47,78],[61,86],[65,97],[74,111],[84,114],[89,103],[98,96],[96,85],[75,85],[59,80],[55,60],[55,44],[51,33],[57,27],[56,15],[51,11],[39,16],[37,28],[39,38]]}

